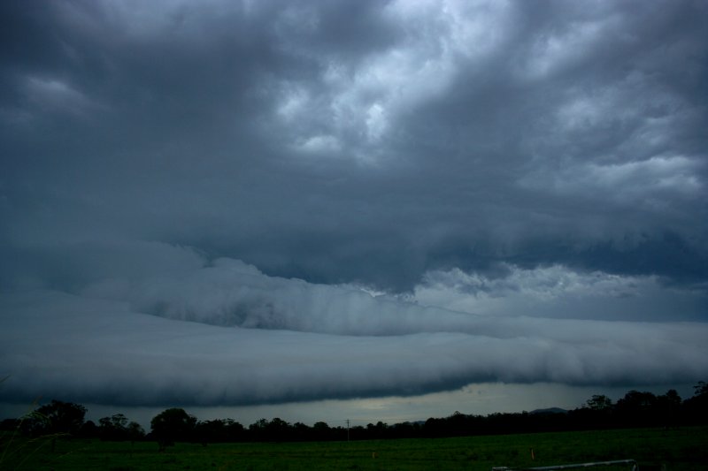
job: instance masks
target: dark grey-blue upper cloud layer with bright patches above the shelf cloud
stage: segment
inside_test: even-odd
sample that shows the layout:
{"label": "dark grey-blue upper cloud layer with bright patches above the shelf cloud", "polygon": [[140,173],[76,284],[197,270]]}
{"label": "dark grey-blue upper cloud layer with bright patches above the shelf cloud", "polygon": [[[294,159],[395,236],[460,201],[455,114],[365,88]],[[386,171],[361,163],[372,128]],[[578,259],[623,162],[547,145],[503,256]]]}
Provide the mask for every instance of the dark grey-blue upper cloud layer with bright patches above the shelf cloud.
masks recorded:
{"label": "dark grey-blue upper cloud layer with bright patches above the shelf cloud", "polygon": [[497,262],[706,280],[704,5],[4,10],[13,247],[118,234],[394,290]]}

